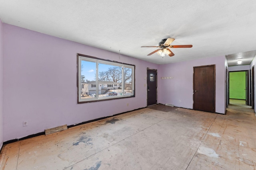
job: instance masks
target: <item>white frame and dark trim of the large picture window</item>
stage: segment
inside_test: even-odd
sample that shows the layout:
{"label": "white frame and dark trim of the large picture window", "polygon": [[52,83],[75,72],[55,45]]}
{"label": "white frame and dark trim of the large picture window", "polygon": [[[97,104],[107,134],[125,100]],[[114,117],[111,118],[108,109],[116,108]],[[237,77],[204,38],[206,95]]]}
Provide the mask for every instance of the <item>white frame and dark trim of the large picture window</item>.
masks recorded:
{"label": "white frame and dark trim of the large picture window", "polygon": [[[96,63],[96,96],[98,96],[98,64],[110,64],[112,66],[121,66],[122,67],[122,82],[119,85],[122,87],[122,96],[106,96],[104,98],[90,98],[90,99],[81,99],[81,61],[89,61],[89,62],[95,62]],[[132,95],[126,95],[124,93],[124,87],[125,87],[125,82],[124,82],[124,68],[131,68],[132,69]],[[106,101],[106,100],[116,100],[116,99],[121,99],[121,98],[133,98],[135,97],[135,65],[133,64],[127,64],[127,63],[120,63],[117,61],[110,61],[106,59],[100,59],[97,57],[92,57],[88,55],[83,55],[77,53],[77,103],[82,104],[82,103],[88,103],[88,102],[99,102],[99,101]],[[113,85],[112,85],[113,86]]]}

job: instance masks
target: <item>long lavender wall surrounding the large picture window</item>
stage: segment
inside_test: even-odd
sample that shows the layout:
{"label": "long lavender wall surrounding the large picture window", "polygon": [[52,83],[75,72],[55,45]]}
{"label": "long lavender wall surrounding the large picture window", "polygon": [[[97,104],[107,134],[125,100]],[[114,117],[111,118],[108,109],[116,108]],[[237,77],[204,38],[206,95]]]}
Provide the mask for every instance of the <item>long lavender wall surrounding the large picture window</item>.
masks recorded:
{"label": "long lavender wall surrounding the large picture window", "polygon": [[[146,107],[147,67],[158,69],[157,64],[5,23],[3,44],[4,141]],[[76,53],[135,64],[136,97],[77,104]],[[22,127],[23,121],[28,126]]]}

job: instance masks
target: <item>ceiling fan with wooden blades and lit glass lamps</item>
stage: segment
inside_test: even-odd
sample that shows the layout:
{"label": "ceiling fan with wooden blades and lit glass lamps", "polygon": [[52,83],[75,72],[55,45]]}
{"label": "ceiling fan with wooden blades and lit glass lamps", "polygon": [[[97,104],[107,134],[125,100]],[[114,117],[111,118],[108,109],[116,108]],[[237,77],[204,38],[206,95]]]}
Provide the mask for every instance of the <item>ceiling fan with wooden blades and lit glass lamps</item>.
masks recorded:
{"label": "ceiling fan with wooden blades and lit glass lamps", "polygon": [[152,53],[149,53],[148,55],[152,55],[157,52],[157,54],[162,57],[165,55],[169,55],[170,57],[174,56],[174,53],[172,53],[172,51],[168,48],[191,48],[192,47],[192,45],[170,45],[174,40],[175,40],[174,38],[162,39],[162,41],[158,43],[158,46],[141,46],[141,47],[158,47],[160,49],[157,49]]}

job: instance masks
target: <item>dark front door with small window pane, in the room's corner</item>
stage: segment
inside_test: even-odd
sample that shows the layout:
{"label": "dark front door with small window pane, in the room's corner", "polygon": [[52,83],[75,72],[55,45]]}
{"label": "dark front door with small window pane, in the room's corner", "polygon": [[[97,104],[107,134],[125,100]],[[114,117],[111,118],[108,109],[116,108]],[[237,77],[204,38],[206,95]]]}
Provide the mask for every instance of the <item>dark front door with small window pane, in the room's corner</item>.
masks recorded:
{"label": "dark front door with small window pane, in the room's corner", "polygon": [[157,104],[157,70],[147,70],[147,90],[148,90],[148,106]]}

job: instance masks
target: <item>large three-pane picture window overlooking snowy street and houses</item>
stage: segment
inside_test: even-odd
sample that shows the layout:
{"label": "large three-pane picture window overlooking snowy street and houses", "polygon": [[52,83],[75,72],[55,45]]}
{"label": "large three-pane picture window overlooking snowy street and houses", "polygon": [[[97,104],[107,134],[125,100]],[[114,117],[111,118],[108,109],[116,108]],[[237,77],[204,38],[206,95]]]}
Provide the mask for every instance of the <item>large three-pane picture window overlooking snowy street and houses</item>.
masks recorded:
{"label": "large three-pane picture window overlooking snowy street and houses", "polygon": [[81,54],[77,60],[78,103],[135,97],[134,65]]}

